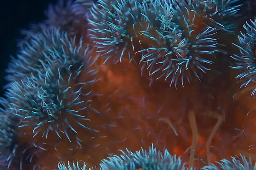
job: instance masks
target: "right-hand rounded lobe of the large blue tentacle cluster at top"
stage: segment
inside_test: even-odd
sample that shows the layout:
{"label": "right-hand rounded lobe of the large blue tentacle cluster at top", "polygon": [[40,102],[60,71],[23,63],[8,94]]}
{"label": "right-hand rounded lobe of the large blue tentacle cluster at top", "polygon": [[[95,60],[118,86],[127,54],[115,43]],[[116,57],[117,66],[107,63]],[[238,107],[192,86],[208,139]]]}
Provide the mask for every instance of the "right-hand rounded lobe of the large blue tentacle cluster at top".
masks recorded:
{"label": "right-hand rounded lobe of the large blue tentacle cluster at top", "polygon": [[215,52],[221,51],[216,33],[219,29],[233,32],[233,23],[224,19],[237,15],[239,5],[232,6],[237,1],[170,1],[167,11],[172,13],[171,20],[160,19],[164,26],[156,30],[159,34],[144,33],[145,39],[157,43],[139,51],[144,52],[142,61],[148,65],[143,68],[149,69],[149,75],[162,71],[157,79],[172,77],[170,84],[175,83],[176,88],[179,77],[183,87],[184,79],[189,83],[194,76],[201,80],[202,73],[210,70],[206,65],[212,64]]}

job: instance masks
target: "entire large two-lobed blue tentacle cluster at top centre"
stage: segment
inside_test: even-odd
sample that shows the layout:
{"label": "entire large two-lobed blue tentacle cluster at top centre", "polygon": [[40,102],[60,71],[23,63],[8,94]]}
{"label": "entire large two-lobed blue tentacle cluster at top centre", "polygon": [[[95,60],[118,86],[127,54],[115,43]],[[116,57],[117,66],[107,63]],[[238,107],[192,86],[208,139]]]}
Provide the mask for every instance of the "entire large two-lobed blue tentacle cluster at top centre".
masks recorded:
{"label": "entire large two-lobed blue tentacle cluster at top centre", "polygon": [[[175,83],[177,88],[179,76],[183,85],[184,77],[190,83],[193,79],[191,73],[200,80],[201,74],[198,75],[197,70],[204,73],[209,70],[205,64],[211,64],[212,54],[221,50],[218,39],[214,37],[216,30],[220,27],[226,31],[232,29],[229,24],[223,26],[222,22],[215,21],[214,15],[218,15],[218,18],[235,15],[239,7],[231,6],[235,2],[167,3],[157,0],[148,3],[131,0],[109,4],[100,1],[101,9],[93,6],[93,20],[89,20],[89,23],[95,29],[90,31],[96,44],[99,44],[97,52],[108,56],[106,60],[115,56],[114,61],[118,58],[121,61],[125,53],[131,60],[131,52],[143,52],[139,60],[144,63],[141,69],[148,67],[150,76],[162,70],[156,79],[165,77],[167,80],[172,75],[170,84]],[[190,11],[194,11],[194,14],[190,14]],[[201,11],[204,14],[200,14]],[[120,45],[123,48],[119,49]],[[137,48],[134,49],[134,46]]]}

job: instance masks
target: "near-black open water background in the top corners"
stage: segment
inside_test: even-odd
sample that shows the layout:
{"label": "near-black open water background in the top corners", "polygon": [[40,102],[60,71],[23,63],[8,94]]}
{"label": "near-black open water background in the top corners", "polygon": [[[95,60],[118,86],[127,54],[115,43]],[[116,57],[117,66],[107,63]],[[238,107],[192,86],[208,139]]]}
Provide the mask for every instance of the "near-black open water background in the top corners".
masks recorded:
{"label": "near-black open water background in the top corners", "polygon": [[[244,5],[245,13],[256,13],[256,0],[241,0],[255,6]],[[45,19],[44,11],[50,3],[57,0],[1,0],[0,3],[0,96],[3,96],[2,88],[6,81],[4,79],[9,62],[9,56],[16,56],[17,42],[22,39],[21,29],[28,29],[30,23],[37,23]],[[2,13],[2,14],[1,14]],[[252,15],[252,14],[251,14]]]}

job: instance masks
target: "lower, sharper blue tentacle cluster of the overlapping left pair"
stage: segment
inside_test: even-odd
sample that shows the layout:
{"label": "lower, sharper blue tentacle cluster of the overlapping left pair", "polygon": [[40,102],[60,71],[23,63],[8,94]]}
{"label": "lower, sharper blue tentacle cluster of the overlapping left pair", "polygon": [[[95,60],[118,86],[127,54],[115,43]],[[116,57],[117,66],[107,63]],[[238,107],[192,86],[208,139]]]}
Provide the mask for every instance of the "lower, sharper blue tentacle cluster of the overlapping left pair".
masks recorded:
{"label": "lower, sharper blue tentacle cluster of the overlapping left pair", "polygon": [[[76,118],[81,120],[85,119],[84,116],[77,114],[77,112],[86,109],[85,105],[78,107],[77,111],[73,110],[75,105],[81,105],[84,101],[79,98],[79,92],[70,89],[70,77],[66,83],[64,78],[61,77],[58,69],[58,78],[51,75],[49,70],[46,71],[46,78],[41,78],[42,82],[31,82],[28,79],[27,82],[17,83],[12,85],[12,102],[10,108],[15,111],[21,120],[23,120],[19,127],[33,126],[33,133],[36,136],[41,133],[42,136],[47,138],[50,131],[55,133],[61,138],[59,131],[64,132],[65,136],[70,140],[67,134],[67,127],[70,127],[73,132],[77,133],[76,130],[70,125],[70,118],[75,120],[81,127],[88,128],[82,125]],[[54,78],[54,79],[53,79]],[[40,85],[41,88],[35,86]],[[26,100],[22,100],[26,97]],[[21,102],[20,102],[21,101]],[[67,116],[63,116],[63,122],[61,121],[61,114],[66,113]],[[83,121],[84,122],[84,121]],[[64,125],[65,124],[65,125]],[[29,128],[30,129],[30,128]],[[88,128],[89,129],[89,128]],[[27,131],[27,130],[24,130]]]}

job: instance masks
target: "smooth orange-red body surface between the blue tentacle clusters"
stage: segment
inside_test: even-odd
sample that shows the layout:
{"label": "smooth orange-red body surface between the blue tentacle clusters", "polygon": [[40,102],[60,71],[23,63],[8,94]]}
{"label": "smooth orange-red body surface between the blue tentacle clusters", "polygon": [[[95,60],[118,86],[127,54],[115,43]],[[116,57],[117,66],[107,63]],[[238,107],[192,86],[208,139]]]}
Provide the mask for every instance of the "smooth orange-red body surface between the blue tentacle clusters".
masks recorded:
{"label": "smooth orange-red body surface between the blue tentacle clusters", "polygon": [[[245,152],[256,139],[256,115],[247,116],[255,109],[256,101],[247,96],[247,91],[239,92],[240,84],[234,81],[238,73],[228,67],[229,63],[218,59],[212,65],[213,71],[204,75],[201,82],[195,80],[186,88],[178,85],[175,89],[164,79],[152,82],[146,70],[141,76],[141,65],[136,59],[130,62],[128,56],[124,56],[122,62],[113,64],[108,60],[103,65],[104,61],[99,58],[90,68],[99,70],[96,74],[99,81],[90,87],[92,94],[98,94],[90,96],[90,107],[99,113],[89,110],[83,114],[91,120],[86,125],[99,131],[80,131],[76,122],[71,122],[74,129],[79,129],[76,137],[86,147],[65,149],[65,152],[61,148],[70,148],[71,144],[66,138],[53,146],[55,139],[58,141],[56,135],[49,135],[47,139],[35,136],[34,141],[47,140],[44,146],[47,152],[37,153],[37,161],[44,160],[41,167],[57,168],[60,158],[82,160],[88,162],[88,167],[94,167],[108,156],[119,155],[118,150],[128,148],[135,152],[152,143],[158,150],[168,149],[171,154],[182,156],[188,166],[196,167],[231,159],[230,156],[238,153],[256,154],[253,149]],[[77,81],[90,79],[84,72]],[[20,142],[26,143],[27,137],[23,136]],[[191,155],[193,162],[189,162]]]}

